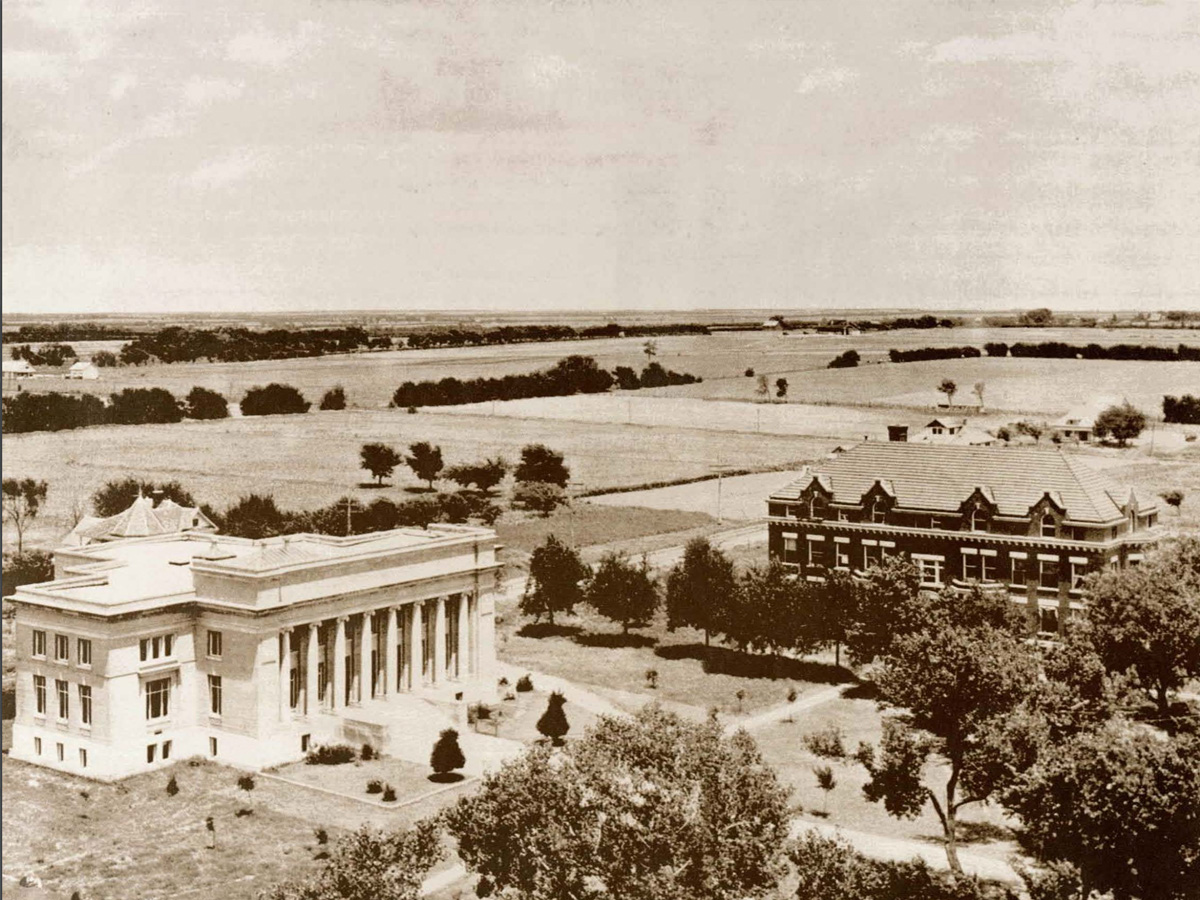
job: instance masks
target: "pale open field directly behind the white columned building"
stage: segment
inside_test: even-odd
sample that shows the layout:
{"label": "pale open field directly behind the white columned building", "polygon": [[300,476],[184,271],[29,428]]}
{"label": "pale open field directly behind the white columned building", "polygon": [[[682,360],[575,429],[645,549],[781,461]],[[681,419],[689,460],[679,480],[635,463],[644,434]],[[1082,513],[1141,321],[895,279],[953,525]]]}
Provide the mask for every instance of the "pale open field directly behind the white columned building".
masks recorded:
{"label": "pale open field directly behind the white columned building", "polygon": [[[367,478],[359,448],[372,440],[397,446],[430,440],[443,448],[446,464],[496,454],[516,460],[522,445],[545,443],[565,455],[575,492],[704,475],[718,462],[796,464],[829,449],[829,442],[784,436],[534,420],[498,427],[496,419],[475,416],[346,410],[5,436],[4,474],[50,484],[43,515],[28,535],[38,546],[71,528],[73,503],[125,475],[176,479],[199,502],[218,508],[252,491],[274,493],[289,508],[346,494],[409,496],[406,488],[419,485],[407,467],[396,470],[392,487],[359,486]],[[5,530],[6,540],[14,540]]]}

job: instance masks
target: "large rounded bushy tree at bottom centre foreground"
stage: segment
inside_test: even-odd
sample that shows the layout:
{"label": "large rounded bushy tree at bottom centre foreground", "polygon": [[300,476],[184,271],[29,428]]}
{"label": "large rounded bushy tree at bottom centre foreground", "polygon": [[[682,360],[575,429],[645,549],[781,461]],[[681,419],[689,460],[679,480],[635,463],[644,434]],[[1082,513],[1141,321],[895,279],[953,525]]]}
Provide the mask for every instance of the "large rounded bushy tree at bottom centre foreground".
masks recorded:
{"label": "large rounded bushy tree at bottom centre foreground", "polygon": [[740,900],[775,890],[788,818],[745,732],[649,704],[532,748],[445,822],[481,896]]}

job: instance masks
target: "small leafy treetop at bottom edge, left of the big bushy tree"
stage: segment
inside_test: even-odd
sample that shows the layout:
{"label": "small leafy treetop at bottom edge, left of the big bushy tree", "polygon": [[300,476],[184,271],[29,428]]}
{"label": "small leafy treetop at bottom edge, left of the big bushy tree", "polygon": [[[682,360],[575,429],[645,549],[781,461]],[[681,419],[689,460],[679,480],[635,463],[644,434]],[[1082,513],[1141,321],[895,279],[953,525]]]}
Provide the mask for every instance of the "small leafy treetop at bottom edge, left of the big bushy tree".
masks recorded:
{"label": "small leafy treetop at bottom edge, left of the big bushy tree", "polygon": [[440,827],[426,818],[403,830],[362,826],[334,845],[314,875],[278,884],[266,900],[419,900],[421,883],[445,857]]}

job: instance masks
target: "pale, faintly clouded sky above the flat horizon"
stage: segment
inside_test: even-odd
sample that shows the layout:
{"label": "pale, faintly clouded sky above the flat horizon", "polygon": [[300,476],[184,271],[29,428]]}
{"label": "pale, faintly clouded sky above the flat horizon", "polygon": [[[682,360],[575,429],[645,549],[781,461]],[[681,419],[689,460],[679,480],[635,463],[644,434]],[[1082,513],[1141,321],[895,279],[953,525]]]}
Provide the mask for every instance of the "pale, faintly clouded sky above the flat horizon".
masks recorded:
{"label": "pale, faintly clouded sky above the flat horizon", "polygon": [[1200,308],[1198,0],[5,0],[7,312]]}

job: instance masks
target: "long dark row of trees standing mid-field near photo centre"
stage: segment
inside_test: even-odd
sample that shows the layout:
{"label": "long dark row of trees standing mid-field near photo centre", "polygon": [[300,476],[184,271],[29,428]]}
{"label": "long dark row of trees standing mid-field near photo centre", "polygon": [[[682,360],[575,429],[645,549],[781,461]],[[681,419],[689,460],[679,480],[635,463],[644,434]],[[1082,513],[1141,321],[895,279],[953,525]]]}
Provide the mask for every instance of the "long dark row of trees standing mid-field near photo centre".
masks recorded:
{"label": "long dark row of trees standing mid-field near photo centre", "polygon": [[404,382],[392,395],[391,406],[446,407],[462,403],[482,403],[492,400],[523,400],[527,397],[563,397],[572,394],[604,394],[614,385],[622,390],[665,388],[672,384],[692,384],[696,376],[680,374],[650,362],[641,376],[629,366],[607,372],[592,356],[568,356],[540,372],[503,376],[500,378],[443,378],[438,382]]}

